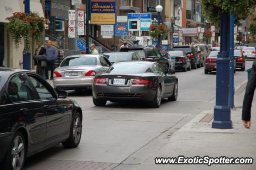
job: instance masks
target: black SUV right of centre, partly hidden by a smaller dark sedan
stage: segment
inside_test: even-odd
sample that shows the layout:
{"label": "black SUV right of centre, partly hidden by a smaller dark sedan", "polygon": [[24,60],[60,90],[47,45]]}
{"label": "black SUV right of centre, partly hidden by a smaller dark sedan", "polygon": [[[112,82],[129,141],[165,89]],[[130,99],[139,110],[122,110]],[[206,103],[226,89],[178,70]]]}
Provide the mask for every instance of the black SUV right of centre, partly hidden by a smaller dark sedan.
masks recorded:
{"label": "black SUV right of centre, partly hidden by a smaller dark sedan", "polygon": [[190,58],[192,69],[200,68],[200,57],[198,55],[198,50],[195,46],[175,46],[174,51],[184,51],[186,55]]}

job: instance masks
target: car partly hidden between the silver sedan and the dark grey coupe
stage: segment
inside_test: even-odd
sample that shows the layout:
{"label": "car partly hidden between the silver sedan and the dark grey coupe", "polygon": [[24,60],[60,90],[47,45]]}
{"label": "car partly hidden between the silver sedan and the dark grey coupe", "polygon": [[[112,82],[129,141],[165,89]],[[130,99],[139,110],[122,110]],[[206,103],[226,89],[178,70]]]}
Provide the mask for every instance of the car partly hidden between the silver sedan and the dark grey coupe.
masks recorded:
{"label": "car partly hidden between the silver sedan and the dark grey coupe", "polygon": [[135,52],[110,52],[103,54],[111,64],[118,61],[140,61],[140,56]]}

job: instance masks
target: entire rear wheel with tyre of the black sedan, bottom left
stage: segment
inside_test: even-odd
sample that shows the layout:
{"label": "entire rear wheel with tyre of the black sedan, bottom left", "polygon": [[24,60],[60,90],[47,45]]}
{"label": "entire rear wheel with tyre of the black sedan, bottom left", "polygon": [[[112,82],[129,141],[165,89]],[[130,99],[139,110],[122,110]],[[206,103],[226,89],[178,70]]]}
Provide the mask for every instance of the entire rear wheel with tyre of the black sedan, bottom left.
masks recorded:
{"label": "entire rear wheel with tyre of the black sedan, bottom left", "polygon": [[5,170],[21,170],[26,158],[26,140],[21,132],[17,132],[10,144],[4,160]]}

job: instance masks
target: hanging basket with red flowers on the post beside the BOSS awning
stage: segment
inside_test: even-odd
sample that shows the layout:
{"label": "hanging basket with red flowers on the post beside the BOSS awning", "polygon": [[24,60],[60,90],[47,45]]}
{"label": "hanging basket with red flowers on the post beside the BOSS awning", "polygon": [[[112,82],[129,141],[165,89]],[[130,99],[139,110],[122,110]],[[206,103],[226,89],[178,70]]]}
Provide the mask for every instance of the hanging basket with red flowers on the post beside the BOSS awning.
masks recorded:
{"label": "hanging basket with red flowers on the post beside the BOSS awning", "polygon": [[24,53],[30,51],[32,38],[36,42],[42,41],[44,18],[39,17],[38,14],[14,12],[13,16],[6,18],[6,20],[9,21],[7,30],[14,40],[15,47],[18,48],[22,44],[22,40],[24,41]]}

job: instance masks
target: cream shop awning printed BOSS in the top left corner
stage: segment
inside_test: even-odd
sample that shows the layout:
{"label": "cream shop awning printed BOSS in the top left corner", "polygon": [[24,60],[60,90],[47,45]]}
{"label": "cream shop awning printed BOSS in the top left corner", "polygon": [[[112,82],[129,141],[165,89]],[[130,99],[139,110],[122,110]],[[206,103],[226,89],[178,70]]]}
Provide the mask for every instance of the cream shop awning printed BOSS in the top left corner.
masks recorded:
{"label": "cream shop awning printed BOSS in the top left corner", "polygon": [[1,0],[0,22],[8,22],[5,18],[12,16],[14,12],[21,12],[19,0]]}

